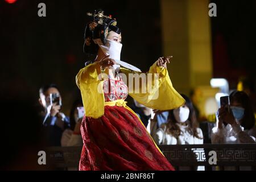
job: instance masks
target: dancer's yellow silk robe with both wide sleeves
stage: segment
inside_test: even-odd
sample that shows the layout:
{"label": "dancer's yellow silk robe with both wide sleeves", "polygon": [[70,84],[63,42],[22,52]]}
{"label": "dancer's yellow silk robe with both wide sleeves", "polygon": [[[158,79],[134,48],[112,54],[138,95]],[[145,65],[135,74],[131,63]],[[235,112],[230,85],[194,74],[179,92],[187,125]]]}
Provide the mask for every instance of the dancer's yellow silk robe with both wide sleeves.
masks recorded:
{"label": "dancer's yellow silk robe with both wide sleeves", "polygon": [[[125,68],[121,68],[120,71],[127,75],[127,80],[129,80],[129,73],[137,73]],[[100,65],[98,63],[93,63],[80,69],[79,73],[76,75],[76,84],[81,91],[86,117],[100,118],[102,115],[104,115],[104,80],[100,80],[98,78],[100,73]],[[131,97],[133,97],[142,105],[159,110],[176,109],[177,107],[185,104],[184,98],[181,97],[180,94],[177,93],[177,91],[172,86],[172,82],[166,68],[158,67],[157,62],[155,62],[150,67],[148,73],[159,74],[159,78],[154,87],[155,89],[151,89],[150,92],[146,93],[130,92],[134,90],[129,90],[129,95]],[[101,92],[98,92],[98,89],[100,89]],[[152,99],[154,98],[156,92],[158,92],[158,98]]]}

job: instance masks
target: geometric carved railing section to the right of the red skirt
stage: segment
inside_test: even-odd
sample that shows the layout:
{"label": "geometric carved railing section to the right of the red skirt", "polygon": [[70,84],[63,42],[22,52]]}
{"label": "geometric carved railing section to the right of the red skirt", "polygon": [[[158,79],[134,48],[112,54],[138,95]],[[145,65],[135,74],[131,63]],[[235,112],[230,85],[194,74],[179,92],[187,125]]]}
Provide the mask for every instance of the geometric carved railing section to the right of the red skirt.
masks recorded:
{"label": "geometric carved railing section to the right of the red skirt", "polygon": [[164,156],[174,166],[214,166],[209,151],[217,154],[215,166],[256,166],[256,144],[160,145]]}

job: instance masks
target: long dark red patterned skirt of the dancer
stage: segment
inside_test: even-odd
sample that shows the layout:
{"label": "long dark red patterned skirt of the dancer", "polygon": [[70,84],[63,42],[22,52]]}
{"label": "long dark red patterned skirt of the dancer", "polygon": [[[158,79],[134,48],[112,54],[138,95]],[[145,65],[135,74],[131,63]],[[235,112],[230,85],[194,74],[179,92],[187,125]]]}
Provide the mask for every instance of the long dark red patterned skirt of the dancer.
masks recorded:
{"label": "long dark red patterned skirt of the dancer", "polygon": [[104,116],[84,117],[79,170],[174,170],[156,148],[137,115],[105,106]]}

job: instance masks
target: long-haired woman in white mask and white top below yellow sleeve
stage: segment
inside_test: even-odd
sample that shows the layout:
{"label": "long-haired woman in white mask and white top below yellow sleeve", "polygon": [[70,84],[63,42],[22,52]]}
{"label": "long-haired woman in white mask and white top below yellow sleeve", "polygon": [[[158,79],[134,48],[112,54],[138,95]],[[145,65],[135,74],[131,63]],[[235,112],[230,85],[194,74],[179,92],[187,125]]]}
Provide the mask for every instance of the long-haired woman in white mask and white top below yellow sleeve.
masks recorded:
{"label": "long-haired woman in white mask and white top below yellow sleeve", "polygon": [[[203,144],[203,132],[198,127],[192,102],[184,94],[181,96],[185,99],[185,104],[170,110],[167,123],[162,124],[156,133],[152,134],[156,144]],[[156,119],[156,115],[154,119]],[[204,171],[204,166],[199,166],[196,169]],[[193,169],[191,167],[179,167],[179,170]]]}

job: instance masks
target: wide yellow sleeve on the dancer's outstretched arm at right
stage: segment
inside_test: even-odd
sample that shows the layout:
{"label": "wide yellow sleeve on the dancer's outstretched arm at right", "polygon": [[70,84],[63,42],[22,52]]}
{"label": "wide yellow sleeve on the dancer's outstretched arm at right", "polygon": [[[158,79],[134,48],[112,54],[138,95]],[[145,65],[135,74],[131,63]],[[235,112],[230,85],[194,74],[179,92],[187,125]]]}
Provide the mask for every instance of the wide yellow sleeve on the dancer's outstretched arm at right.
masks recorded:
{"label": "wide yellow sleeve on the dancer's outstretched arm at right", "polygon": [[[145,73],[135,73],[125,68],[122,68],[121,72],[125,73],[127,77],[129,95],[140,104],[159,110],[176,109],[185,104],[184,98],[181,97],[172,86],[167,69],[159,67],[157,61],[150,67],[148,73],[146,73],[147,80],[139,83],[139,89],[136,89],[136,86],[134,86],[135,84],[130,84],[131,77],[129,75],[131,75],[130,73],[133,73],[133,75],[137,74],[138,77],[142,78],[143,76],[141,75],[145,75]],[[132,88],[131,85],[133,85]]]}

